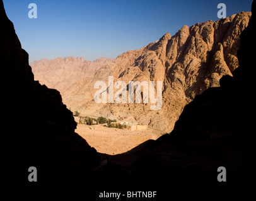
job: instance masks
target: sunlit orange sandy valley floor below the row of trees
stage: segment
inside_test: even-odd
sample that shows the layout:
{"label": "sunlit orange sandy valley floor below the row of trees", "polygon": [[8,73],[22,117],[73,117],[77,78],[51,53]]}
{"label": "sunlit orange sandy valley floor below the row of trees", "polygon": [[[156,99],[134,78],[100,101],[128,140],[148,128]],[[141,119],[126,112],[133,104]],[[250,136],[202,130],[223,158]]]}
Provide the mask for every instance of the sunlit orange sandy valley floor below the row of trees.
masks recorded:
{"label": "sunlit orange sandy valley floor below the row of trees", "polygon": [[78,124],[76,133],[86,139],[99,153],[117,155],[124,153],[148,139],[157,139],[162,134],[156,129],[129,131],[128,129],[107,128],[102,125]]}

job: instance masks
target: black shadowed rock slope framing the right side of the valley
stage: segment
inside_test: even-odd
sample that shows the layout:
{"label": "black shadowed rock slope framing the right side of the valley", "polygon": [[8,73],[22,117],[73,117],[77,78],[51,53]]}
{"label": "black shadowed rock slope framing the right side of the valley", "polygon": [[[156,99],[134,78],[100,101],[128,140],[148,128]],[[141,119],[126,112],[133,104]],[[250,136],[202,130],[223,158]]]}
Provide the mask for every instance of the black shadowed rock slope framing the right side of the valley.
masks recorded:
{"label": "black shadowed rock slope framing the right side of the valley", "polygon": [[[252,18],[241,34],[240,67],[225,75],[221,87],[207,89],[183,109],[172,133],[147,141],[122,155],[108,156],[117,182],[148,189],[208,188],[228,190],[250,186],[255,180],[256,141],[253,91],[255,90],[255,1]],[[228,182],[218,182],[218,167],[227,170]],[[166,183],[168,185],[166,185]],[[175,188],[176,187],[176,188]],[[212,188],[214,187],[214,188]],[[164,189],[164,190],[163,190]],[[247,189],[248,190],[248,189]]]}

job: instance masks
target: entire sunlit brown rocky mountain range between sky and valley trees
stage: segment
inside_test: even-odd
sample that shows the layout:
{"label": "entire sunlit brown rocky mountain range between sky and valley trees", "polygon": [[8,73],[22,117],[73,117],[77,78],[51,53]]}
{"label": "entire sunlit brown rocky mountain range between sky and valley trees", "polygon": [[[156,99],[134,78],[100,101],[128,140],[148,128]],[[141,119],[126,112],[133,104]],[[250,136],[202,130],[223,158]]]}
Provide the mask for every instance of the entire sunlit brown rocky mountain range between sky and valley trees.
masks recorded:
{"label": "entire sunlit brown rocky mountain range between sky and valley trees", "polygon": [[[236,52],[240,47],[240,34],[250,16],[250,12],[242,12],[215,22],[183,26],[174,36],[166,33],[159,41],[125,52],[115,60],[101,58],[86,62],[69,57],[40,60],[30,65],[35,79],[58,89],[64,104],[72,111],[126,119],[170,132],[184,106],[196,95],[219,87],[223,75],[233,75],[238,67]],[[154,81],[154,94],[157,94],[157,81],[161,81],[161,109],[151,110],[155,104],[143,101],[141,104],[96,103],[93,99],[98,90],[94,89],[95,82],[102,80],[108,85],[108,76],[113,76],[114,83],[118,80],[125,84],[136,80]]]}

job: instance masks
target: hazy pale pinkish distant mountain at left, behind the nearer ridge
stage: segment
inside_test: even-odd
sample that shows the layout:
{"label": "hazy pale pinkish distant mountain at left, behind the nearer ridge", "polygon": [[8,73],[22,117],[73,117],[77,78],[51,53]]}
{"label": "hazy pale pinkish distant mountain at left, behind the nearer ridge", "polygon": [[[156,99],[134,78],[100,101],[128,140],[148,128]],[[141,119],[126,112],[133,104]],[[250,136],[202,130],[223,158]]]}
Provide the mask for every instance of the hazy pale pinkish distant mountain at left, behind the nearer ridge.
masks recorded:
{"label": "hazy pale pinkish distant mountain at left, behind the nearer ridge", "polygon": [[48,87],[58,89],[64,94],[78,80],[92,79],[100,67],[110,62],[111,58],[99,58],[90,62],[84,60],[84,57],[58,57],[53,60],[35,61],[32,66],[37,80],[42,80]]}

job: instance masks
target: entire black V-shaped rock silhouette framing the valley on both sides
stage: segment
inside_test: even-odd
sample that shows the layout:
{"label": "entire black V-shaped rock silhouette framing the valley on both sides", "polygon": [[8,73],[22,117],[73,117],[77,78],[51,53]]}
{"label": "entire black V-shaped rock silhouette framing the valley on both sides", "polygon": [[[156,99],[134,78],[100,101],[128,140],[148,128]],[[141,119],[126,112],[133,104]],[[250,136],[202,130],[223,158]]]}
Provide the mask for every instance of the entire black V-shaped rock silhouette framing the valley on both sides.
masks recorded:
{"label": "entire black V-shaped rock silhouette framing the valley on both sides", "polygon": [[[241,34],[240,67],[233,77],[224,76],[221,87],[207,89],[185,106],[172,133],[116,156],[100,156],[74,133],[76,123],[59,92],[33,80],[28,54],[3,1],[0,8],[2,129],[6,128],[2,153],[9,183],[35,188],[89,186],[96,191],[159,190],[172,197],[177,188],[184,193],[188,189],[202,193],[202,187],[212,193],[228,187],[241,191],[255,181],[255,1],[250,23]],[[100,157],[107,159],[100,163]],[[29,166],[38,168],[40,182],[28,182]],[[226,168],[227,182],[217,181],[219,166]]]}

